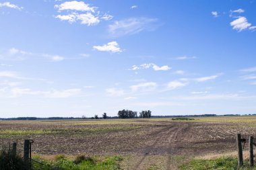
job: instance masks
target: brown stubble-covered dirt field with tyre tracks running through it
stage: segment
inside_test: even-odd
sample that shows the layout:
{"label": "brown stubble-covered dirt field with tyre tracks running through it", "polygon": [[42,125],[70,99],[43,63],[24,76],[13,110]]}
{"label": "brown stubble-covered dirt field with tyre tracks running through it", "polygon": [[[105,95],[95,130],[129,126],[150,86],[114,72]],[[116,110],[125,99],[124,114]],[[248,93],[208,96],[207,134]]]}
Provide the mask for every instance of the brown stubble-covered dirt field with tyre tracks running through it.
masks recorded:
{"label": "brown stubble-covered dirt field with tyre tracks running through it", "polygon": [[18,140],[22,147],[31,138],[33,153],[42,155],[123,155],[124,169],[176,169],[189,157],[236,151],[236,134],[255,132],[256,116],[0,121],[0,142]]}

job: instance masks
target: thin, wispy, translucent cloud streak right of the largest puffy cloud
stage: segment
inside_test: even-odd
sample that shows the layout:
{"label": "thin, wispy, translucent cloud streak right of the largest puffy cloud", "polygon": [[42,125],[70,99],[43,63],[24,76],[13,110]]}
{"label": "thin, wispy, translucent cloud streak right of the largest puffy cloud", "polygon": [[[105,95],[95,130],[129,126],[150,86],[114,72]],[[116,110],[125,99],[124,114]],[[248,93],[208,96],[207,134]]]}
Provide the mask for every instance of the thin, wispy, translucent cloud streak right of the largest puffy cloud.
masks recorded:
{"label": "thin, wispy, translucent cloud streak right of the largest puffy cloud", "polygon": [[108,26],[108,32],[115,37],[137,34],[143,30],[156,30],[156,23],[158,19],[146,17],[132,17],[115,21],[114,24]]}

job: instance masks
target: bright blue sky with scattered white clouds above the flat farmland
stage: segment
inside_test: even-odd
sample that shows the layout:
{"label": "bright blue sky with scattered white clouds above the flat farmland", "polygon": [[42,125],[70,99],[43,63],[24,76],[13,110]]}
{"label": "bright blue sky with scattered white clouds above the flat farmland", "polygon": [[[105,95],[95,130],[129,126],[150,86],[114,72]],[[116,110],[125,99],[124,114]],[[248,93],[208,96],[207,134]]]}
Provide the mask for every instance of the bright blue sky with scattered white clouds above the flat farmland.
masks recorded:
{"label": "bright blue sky with scattered white clouds above the flat farmland", "polygon": [[0,0],[0,118],[256,114],[255,9]]}

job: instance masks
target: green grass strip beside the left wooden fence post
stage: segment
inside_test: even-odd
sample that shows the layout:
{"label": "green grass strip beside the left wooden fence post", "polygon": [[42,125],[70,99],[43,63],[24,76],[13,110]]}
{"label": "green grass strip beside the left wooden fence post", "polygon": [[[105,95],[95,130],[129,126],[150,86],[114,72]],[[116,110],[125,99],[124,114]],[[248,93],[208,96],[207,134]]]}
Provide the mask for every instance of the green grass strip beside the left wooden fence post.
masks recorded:
{"label": "green grass strip beside the left wooden fence post", "polygon": [[54,161],[46,161],[40,157],[34,158],[36,161],[43,163],[33,163],[33,169],[42,170],[118,170],[121,169],[119,162],[121,157],[105,157],[104,159],[90,158],[85,156],[78,156],[75,160],[68,159],[61,155],[55,158]]}

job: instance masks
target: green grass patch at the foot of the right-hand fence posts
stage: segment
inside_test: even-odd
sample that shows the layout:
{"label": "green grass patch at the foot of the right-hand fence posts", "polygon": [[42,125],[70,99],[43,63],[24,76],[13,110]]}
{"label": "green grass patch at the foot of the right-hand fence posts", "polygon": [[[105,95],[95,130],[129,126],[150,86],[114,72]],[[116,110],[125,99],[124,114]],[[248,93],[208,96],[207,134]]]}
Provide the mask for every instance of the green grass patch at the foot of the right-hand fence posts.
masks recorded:
{"label": "green grass patch at the foot of the right-hand fence posts", "polygon": [[[236,170],[237,168],[237,158],[236,157],[220,157],[218,159],[193,159],[181,165],[179,168],[181,170]],[[240,167],[241,170],[256,170],[256,167],[249,167],[248,161],[244,162],[244,166]]]}

